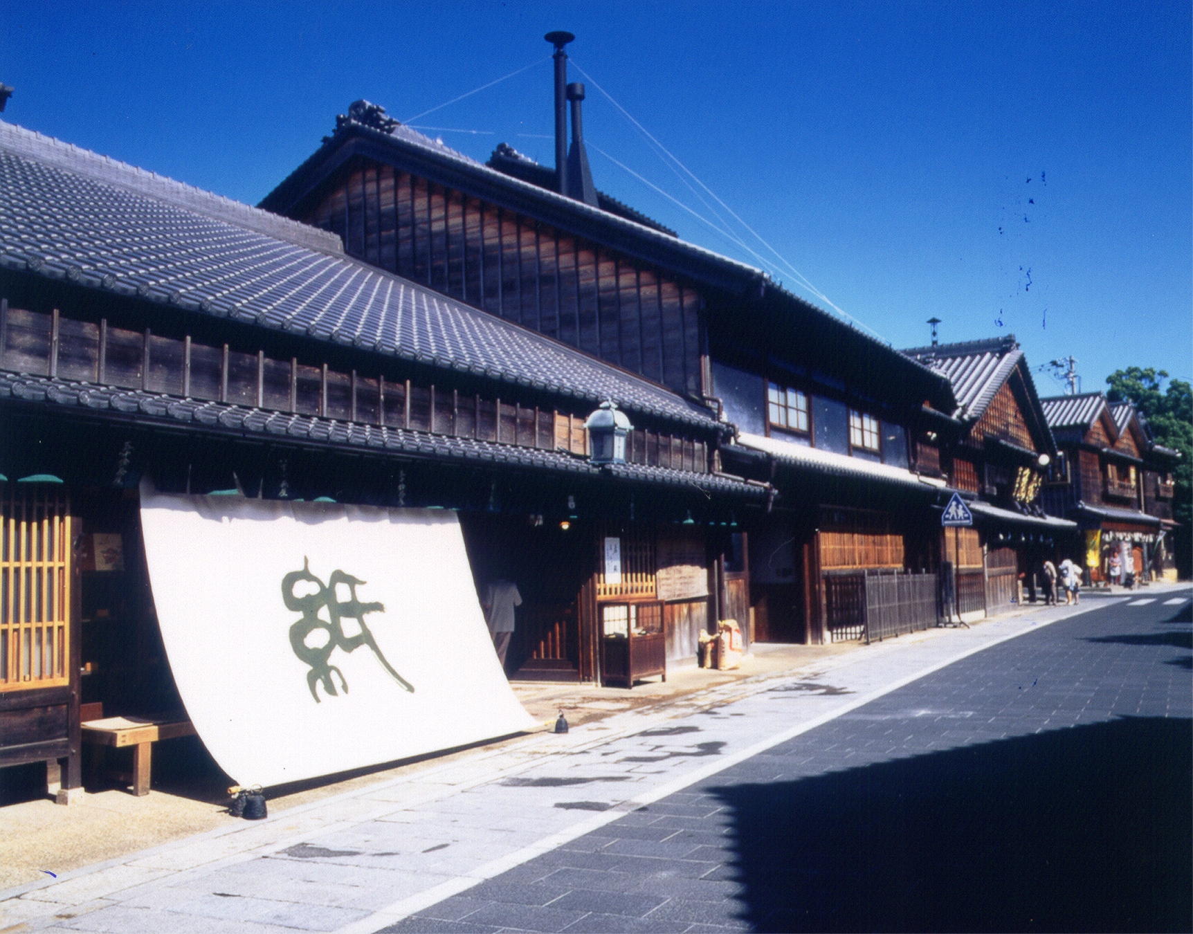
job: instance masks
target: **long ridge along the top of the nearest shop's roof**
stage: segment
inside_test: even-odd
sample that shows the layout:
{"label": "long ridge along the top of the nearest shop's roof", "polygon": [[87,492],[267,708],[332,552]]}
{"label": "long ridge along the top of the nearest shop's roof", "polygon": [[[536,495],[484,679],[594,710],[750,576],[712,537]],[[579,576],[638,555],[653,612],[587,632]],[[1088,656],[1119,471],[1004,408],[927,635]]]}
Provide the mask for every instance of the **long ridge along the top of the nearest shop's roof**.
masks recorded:
{"label": "long ridge along the top of the nearest shop's roof", "polygon": [[172,204],[183,210],[235,224],[288,243],[344,255],[339,235],[291,221],[223,194],[178,181],[168,175],[100,155],[64,140],[16,123],[0,120],[0,151],[72,172],[99,185],[112,185]]}

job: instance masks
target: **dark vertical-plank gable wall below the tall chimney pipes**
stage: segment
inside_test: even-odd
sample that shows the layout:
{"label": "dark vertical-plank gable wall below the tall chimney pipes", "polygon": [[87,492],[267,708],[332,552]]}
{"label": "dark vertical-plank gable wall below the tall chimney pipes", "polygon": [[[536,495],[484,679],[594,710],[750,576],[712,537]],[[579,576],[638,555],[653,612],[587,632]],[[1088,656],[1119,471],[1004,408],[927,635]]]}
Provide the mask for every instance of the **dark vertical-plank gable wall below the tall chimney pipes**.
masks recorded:
{"label": "dark vertical-plank gable wall below the tall chimney pipes", "polygon": [[532,216],[358,160],[297,219],[353,256],[699,395],[701,298],[674,276]]}

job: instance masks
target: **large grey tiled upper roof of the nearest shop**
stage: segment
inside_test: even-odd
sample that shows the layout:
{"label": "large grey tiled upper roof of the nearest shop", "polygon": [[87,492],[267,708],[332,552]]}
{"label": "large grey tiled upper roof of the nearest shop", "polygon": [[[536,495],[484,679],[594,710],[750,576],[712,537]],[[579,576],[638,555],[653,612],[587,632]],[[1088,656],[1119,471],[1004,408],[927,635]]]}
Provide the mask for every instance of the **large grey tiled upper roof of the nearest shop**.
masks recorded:
{"label": "large grey tiled upper roof of the nearest shop", "polygon": [[711,412],[304,224],[0,123],[0,268],[713,428]]}

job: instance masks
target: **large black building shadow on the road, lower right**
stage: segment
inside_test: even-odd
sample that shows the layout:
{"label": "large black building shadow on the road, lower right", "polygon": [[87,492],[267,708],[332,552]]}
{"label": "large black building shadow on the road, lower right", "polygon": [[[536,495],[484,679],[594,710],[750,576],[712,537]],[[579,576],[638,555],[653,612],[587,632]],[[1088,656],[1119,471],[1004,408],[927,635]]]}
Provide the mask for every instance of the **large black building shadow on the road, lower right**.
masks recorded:
{"label": "large black building shadow on the road, lower right", "polygon": [[1191,768],[1124,717],[710,791],[758,930],[1189,930]]}

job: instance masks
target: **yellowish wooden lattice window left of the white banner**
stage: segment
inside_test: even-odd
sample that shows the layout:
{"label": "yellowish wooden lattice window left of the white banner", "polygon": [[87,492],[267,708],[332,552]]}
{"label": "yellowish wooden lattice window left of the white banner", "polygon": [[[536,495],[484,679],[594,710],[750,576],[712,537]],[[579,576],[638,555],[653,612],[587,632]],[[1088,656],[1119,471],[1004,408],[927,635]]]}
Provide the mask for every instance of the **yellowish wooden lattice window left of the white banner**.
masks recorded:
{"label": "yellowish wooden lattice window left of the white banner", "polygon": [[0,692],[70,682],[69,512],[54,485],[0,503]]}

